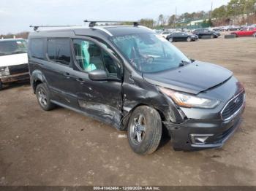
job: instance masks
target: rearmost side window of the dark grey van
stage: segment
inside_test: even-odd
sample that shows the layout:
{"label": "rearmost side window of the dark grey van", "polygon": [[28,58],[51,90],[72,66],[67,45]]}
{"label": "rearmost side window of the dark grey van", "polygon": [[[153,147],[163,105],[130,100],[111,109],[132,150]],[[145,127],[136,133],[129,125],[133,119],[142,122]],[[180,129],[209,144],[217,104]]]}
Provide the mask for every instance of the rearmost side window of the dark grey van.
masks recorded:
{"label": "rearmost side window of the dark grey van", "polygon": [[30,39],[30,52],[31,57],[38,59],[45,59],[44,51],[44,40],[45,39]]}

